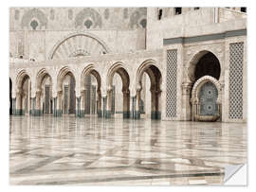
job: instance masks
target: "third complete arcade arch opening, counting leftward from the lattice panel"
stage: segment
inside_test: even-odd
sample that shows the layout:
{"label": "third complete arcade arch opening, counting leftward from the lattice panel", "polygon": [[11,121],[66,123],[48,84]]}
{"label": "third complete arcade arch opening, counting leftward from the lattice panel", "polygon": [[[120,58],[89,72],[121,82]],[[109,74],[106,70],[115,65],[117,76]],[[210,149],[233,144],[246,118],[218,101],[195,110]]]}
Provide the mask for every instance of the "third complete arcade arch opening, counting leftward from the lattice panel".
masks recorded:
{"label": "third complete arcade arch opening, counting leftward from the lattice panel", "polygon": [[81,116],[98,114],[101,117],[101,76],[93,65],[82,71],[81,90]]}

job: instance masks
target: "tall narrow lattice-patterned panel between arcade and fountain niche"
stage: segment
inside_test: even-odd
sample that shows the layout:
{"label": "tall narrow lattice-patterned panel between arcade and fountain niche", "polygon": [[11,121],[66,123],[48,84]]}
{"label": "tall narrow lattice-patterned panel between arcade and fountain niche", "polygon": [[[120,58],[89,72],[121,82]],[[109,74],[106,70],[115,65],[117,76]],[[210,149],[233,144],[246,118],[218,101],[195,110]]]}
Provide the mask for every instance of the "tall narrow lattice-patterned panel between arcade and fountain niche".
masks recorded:
{"label": "tall narrow lattice-patterned panel between arcade and fountain niche", "polygon": [[167,50],[166,116],[176,117],[177,50]]}

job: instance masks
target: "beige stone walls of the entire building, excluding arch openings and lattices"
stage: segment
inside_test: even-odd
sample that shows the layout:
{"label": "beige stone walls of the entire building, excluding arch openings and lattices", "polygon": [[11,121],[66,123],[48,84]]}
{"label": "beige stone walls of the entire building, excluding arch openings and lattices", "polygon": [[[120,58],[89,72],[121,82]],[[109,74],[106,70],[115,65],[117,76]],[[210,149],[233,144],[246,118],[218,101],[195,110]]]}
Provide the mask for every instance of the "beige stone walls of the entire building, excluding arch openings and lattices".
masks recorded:
{"label": "beige stone walls of the entire building, excluding arch openings and lattices", "polygon": [[[17,11],[18,10],[18,11]],[[216,40],[196,41],[192,43],[175,43],[163,44],[166,39],[174,38],[192,38],[201,37],[204,35],[216,35],[226,33],[228,31],[247,29],[247,18],[245,13],[240,13],[237,10],[218,9],[218,19],[216,17],[216,9],[200,8],[184,9],[181,15],[172,15],[173,8],[164,8],[163,18],[157,19],[157,8],[146,9],[94,9],[99,14],[92,13],[98,19],[93,20],[92,28],[85,26],[76,26],[76,15],[80,14],[83,9],[72,9],[72,14],[69,8],[61,9],[40,9],[45,14],[42,16],[40,27],[37,30],[29,29],[22,23],[22,18],[27,8],[12,8],[10,9],[10,29],[9,29],[9,52],[11,55],[9,65],[9,77],[12,81],[12,97],[16,96],[17,82],[20,72],[27,73],[31,82],[31,96],[36,95],[37,74],[40,70],[46,69],[46,72],[51,77],[52,96],[56,97],[59,91],[58,76],[60,71],[67,69],[74,75],[76,80],[76,96],[81,96],[82,93],[82,70],[92,66],[101,76],[101,96],[107,96],[107,92],[111,89],[109,80],[110,71],[117,67],[122,67],[129,75],[130,96],[137,96],[137,90],[140,89],[138,84],[138,76],[145,63],[149,62],[155,65],[161,73],[161,97],[160,109],[161,118],[163,120],[191,120],[191,103],[190,103],[190,84],[193,83],[190,79],[192,71],[192,62],[202,51],[213,53],[219,60],[221,65],[221,76],[219,83],[223,90],[221,92],[222,102],[222,120],[226,122],[230,120],[229,113],[229,44],[245,43],[244,51],[244,78],[243,78],[243,119],[235,121],[247,121],[247,37],[238,35],[237,37],[226,37]],[[72,16],[70,16],[72,15]],[[69,19],[70,17],[70,19]],[[27,25],[32,17],[27,16]],[[101,19],[99,19],[101,18]],[[92,18],[93,19],[93,18]],[[147,27],[142,27],[141,21],[147,19]],[[29,22],[28,22],[29,20]],[[41,21],[41,22],[42,22]],[[47,23],[44,23],[47,21]],[[101,22],[100,22],[101,21]],[[83,20],[82,20],[83,22]],[[217,23],[216,23],[217,22]],[[218,23],[219,22],[219,23]],[[27,28],[28,27],[28,28]],[[84,28],[85,27],[85,28]],[[106,47],[108,51],[104,54],[89,55],[86,57],[69,58],[68,55],[73,50],[72,46],[83,44],[75,40],[66,43],[62,47],[63,55],[60,58],[51,60],[50,56],[55,49],[61,47],[64,41],[73,38],[74,34],[82,34],[88,39],[96,40],[101,46]],[[90,39],[90,41],[91,41]],[[89,41],[89,40],[88,40]],[[93,41],[84,49],[93,49]],[[79,47],[79,46],[78,46]],[[166,83],[167,83],[167,50],[177,50],[177,79],[176,79],[176,117],[166,117]],[[56,49],[57,50],[57,49]],[[93,49],[95,50],[95,49]],[[17,58],[23,55],[24,60]],[[200,55],[200,54],[199,54]],[[34,59],[35,61],[30,61]],[[146,73],[142,78],[141,98],[145,101],[144,108],[145,117],[151,115],[151,81]],[[158,79],[160,81],[160,79]],[[122,100],[121,79],[116,74],[113,80],[116,88],[116,99]],[[117,100],[116,110],[122,111],[122,103]],[[143,115],[141,117],[144,117]]]}

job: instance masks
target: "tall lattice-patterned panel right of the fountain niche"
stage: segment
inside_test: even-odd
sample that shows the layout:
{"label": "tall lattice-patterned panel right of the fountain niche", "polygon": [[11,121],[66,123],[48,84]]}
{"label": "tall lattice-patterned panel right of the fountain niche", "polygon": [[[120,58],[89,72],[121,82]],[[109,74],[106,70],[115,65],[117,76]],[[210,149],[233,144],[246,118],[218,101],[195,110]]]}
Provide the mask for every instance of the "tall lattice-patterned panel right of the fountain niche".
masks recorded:
{"label": "tall lattice-patterned panel right of the fountain niche", "polygon": [[243,118],[244,43],[229,44],[229,118]]}

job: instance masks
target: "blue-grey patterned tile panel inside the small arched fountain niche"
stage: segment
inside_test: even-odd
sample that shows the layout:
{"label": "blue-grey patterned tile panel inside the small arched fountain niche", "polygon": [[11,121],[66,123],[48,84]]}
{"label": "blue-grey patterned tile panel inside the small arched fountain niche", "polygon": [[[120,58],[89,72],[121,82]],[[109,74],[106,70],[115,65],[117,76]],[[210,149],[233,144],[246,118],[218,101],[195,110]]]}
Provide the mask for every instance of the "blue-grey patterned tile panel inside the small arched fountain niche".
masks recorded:
{"label": "blue-grey patterned tile panel inside the small arched fountain niche", "polygon": [[202,85],[199,93],[200,114],[218,114],[218,105],[216,103],[217,98],[218,90],[212,82],[208,81],[204,85]]}

